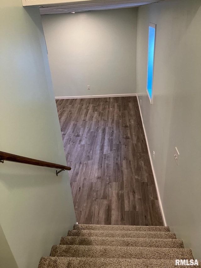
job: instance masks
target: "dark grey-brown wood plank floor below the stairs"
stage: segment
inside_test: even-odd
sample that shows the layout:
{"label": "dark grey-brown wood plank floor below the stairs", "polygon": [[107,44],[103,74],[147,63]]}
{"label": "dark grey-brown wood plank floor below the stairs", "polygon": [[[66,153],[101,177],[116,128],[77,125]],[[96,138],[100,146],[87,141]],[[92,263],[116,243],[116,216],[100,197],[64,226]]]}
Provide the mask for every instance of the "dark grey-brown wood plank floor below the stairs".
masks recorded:
{"label": "dark grey-brown wood plank floor below the stairs", "polygon": [[56,103],[77,222],[163,225],[137,98]]}

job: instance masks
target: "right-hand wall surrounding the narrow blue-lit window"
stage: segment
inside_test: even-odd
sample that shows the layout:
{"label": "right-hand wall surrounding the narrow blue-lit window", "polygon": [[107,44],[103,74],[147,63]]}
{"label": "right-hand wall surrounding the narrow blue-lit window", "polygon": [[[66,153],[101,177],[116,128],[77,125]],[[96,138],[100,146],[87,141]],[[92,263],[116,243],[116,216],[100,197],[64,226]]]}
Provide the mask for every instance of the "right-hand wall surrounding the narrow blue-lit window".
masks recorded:
{"label": "right-hand wall surrounding the narrow blue-lit window", "polygon": [[[156,24],[153,104],[146,92],[149,22]],[[167,225],[201,258],[201,1],[139,8],[137,94]],[[179,165],[174,159],[175,147]]]}

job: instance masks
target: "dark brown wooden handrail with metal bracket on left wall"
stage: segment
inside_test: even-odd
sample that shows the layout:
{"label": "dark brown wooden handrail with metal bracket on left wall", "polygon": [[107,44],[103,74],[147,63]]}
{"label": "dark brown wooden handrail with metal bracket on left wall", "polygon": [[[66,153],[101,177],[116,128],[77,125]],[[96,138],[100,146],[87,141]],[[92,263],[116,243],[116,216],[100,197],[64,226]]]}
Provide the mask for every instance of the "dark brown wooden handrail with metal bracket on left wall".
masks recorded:
{"label": "dark brown wooden handrail with metal bracket on left wall", "polygon": [[[17,162],[17,163],[23,163],[23,164],[29,164],[34,166],[40,166],[40,167],[53,167],[53,168],[60,168],[62,170],[71,170],[71,167],[54,164],[51,162],[41,161],[33,158],[28,158],[24,156],[17,156],[5,152],[0,151],[0,161],[3,163],[3,161],[11,161],[11,162]],[[59,171],[59,172],[61,172]],[[59,172],[56,171],[56,174]]]}

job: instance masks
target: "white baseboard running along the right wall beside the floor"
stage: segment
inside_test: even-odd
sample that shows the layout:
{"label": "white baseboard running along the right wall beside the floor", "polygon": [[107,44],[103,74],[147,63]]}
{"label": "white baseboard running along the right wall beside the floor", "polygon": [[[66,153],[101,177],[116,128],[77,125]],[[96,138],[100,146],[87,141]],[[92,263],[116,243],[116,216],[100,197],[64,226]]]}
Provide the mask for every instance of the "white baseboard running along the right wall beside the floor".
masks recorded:
{"label": "white baseboard running along the right wall beside the floor", "polygon": [[150,152],[150,149],[149,149],[149,143],[148,143],[148,139],[147,139],[147,134],[146,134],[146,130],[145,130],[145,127],[144,127],[144,122],[143,122],[143,118],[142,118],[142,112],[141,112],[141,108],[140,108],[140,104],[139,104],[138,94],[136,94],[136,96],[137,96],[137,100],[138,100],[138,106],[139,106],[140,116],[141,116],[141,120],[142,120],[144,136],[145,136],[145,139],[146,139],[147,149],[148,149],[148,153],[149,153],[151,169],[152,169],[153,176],[154,176],[154,182],[155,182],[155,186],[156,186],[156,192],[157,192],[157,196],[158,196],[160,212],[161,212],[161,215],[162,215],[163,224],[164,224],[164,226],[167,226],[166,218],[165,218],[165,214],[164,214],[164,210],[163,210],[163,206],[162,206],[162,202],[161,202],[161,199],[160,199],[160,192],[159,192],[158,183],[157,183],[157,180],[156,180],[156,174],[155,174],[155,170],[154,170],[154,165],[153,165],[153,162],[152,162],[152,159],[151,159],[151,152]]}

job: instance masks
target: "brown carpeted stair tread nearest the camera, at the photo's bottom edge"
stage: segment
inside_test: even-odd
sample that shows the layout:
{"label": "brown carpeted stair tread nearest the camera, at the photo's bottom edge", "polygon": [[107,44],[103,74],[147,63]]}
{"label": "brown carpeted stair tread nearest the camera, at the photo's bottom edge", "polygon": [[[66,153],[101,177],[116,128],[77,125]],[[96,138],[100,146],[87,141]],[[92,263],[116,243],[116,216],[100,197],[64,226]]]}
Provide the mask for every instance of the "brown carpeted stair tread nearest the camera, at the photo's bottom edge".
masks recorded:
{"label": "brown carpeted stair tread nearest the camera, at the photo's bottom edge", "polygon": [[[175,260],[43,257],[38,268],[173,268]],[[189,266],[182,266],[189,267]],[[191,266],[194,267],[194,266]],[[199,266],[201,267],[200,263]]]}

